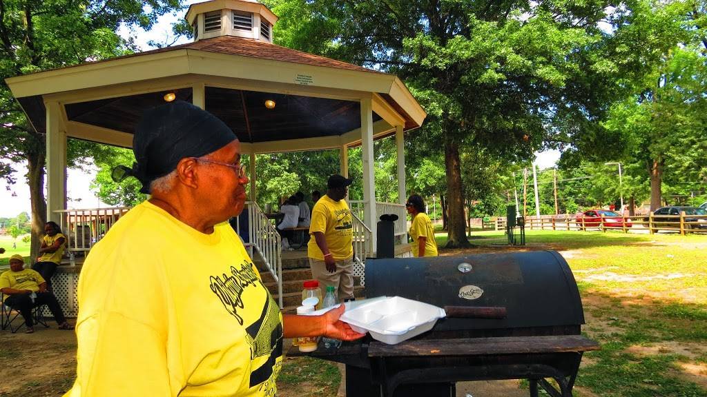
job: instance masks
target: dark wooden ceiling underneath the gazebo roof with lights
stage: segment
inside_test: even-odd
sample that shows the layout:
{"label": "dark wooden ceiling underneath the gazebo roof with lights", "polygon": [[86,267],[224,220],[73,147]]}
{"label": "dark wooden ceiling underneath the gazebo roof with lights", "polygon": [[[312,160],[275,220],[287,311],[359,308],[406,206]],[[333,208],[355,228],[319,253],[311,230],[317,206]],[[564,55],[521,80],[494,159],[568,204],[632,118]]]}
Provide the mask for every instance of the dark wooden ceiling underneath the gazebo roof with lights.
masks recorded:
{"label": "dark wooden ceiling underneath the gazebo roof with lights", "polygon": [[[175,90],[175,94],[178,100],[192,101],[191,88]],[[275,108],[267,109],[266,100],[274,100]],[[78,102],[66,105],[66,117],[132,134],[144,109],[163,103],[162,93]],[[206,87],[206,110],[248,143],[336,136],[361,125],[359,102],[302,95]],[[373,122],[380,119],[373,114]]]}

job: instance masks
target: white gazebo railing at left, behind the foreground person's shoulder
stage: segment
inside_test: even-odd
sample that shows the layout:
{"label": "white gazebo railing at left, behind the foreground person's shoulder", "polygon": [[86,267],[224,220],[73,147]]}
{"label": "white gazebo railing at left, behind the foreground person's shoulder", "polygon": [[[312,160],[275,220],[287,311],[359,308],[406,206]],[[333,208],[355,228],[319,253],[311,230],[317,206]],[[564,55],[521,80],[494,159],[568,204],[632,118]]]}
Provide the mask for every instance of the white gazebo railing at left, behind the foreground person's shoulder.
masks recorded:
{"label": "white gazebo railing at left, behind the foreground person's shoulder", "polygon": [[66,235],[69,256],[75,251],[89,251],[129,210],[129,207],[113,207],[54,211],[61,215],[59,227]]}

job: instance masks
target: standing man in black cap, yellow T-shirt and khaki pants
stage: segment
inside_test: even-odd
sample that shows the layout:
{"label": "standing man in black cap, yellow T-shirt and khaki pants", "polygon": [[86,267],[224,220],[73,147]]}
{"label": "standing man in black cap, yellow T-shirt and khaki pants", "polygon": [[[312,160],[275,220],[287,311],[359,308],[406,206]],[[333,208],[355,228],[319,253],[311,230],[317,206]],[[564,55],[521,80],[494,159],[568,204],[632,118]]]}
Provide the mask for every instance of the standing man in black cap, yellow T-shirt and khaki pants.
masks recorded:
{"label": "standing man in black cap, yellow T-shirt and khaki pants", "polygon": [[327,194],[312,208],[307,256],[312,278],[319,280],[322,296],[327,285],[338,291],[339,302],[354,299],[354,225],[349,204],[351,179],[332,175]]}

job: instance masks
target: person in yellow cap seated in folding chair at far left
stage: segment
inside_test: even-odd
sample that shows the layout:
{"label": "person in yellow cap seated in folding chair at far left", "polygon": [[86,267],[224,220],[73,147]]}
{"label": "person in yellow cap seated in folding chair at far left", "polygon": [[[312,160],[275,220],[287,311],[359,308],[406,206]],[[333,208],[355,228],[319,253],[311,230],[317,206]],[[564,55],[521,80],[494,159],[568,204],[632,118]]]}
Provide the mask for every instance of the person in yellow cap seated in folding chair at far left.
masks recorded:
{"label": "person in yellow cap seated in folding chair at far left", "polygon": [[32,309],[42,304],[49,307],[59,329],[74,329],[74,326],[66,322],[57,297],[47,291],[47,282],[42,275],[32,269],[25,269],[24,266],[25,259],[21,255],[10,257],[10,270],[0,275],[0,292],[4,294],[3,303],[20,312],[25,319],[25,333],[35,331]]}

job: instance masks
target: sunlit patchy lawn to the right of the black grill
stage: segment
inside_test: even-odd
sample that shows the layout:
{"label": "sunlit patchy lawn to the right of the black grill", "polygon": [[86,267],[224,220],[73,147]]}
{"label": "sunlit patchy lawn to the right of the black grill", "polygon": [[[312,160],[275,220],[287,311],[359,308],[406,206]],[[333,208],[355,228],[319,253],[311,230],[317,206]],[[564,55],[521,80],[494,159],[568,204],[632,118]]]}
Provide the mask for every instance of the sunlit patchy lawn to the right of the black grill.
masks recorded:
{"label": "sunlit patchy lawn to the right of the black grill", "polygon": [[[447,236],[436,237],[443,247]],[[585,355],[577,386],[608,397],[707,396],[679,367],[706,364],[707,353],[686,357],[669,348],[707,343],[707,235],[528,231],[526,240],[513,249],[563,251],[590,316],[583,331],[602,345]],[[470,242],[507,247],[503,232],[472,232]],[[635,346],[667,347],[629,352]]]}

